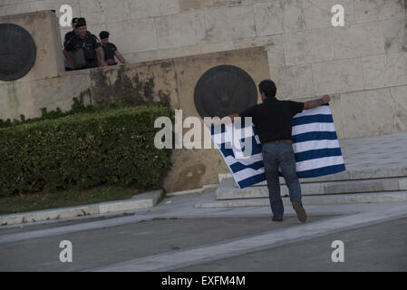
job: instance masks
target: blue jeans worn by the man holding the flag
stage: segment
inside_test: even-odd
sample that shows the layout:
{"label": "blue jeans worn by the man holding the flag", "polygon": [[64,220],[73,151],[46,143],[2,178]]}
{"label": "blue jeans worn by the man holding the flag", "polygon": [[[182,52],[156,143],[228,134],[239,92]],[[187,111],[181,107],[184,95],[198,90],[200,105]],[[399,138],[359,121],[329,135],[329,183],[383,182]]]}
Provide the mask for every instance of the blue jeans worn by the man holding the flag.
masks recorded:
{"label": "blue jeans worn by the man holding the flag", "polygon": [[301,186],[296,175],[296,159],[293,146],[286,143],[263,144],[268,196],[274,218],[283,218],[284,206],[280,194],[278,167],[286,180],[291,202],[301,201]]}

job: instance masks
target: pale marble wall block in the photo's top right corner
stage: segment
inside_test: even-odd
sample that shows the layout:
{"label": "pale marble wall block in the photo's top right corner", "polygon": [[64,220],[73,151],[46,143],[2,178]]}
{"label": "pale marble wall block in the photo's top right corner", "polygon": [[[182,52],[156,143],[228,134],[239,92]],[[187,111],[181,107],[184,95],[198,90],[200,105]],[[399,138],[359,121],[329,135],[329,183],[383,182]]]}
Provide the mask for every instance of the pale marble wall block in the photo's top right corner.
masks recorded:
{"label": "pale marble wall block in the photo's top right corner", "polygon": [[357,22],[383,20],[405,15],[402,0],[354,0]]}

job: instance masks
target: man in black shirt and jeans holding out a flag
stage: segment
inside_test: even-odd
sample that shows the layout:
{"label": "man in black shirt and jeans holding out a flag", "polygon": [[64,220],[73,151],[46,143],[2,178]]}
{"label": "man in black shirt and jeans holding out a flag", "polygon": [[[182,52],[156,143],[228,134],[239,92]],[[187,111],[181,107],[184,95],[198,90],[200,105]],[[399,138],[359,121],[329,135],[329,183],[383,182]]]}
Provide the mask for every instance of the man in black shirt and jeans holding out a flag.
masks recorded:
{"label": "man in black shirt and jeans holding out a flag", "polygon": [[251,117],[257,127],[257,134],[262,143],[273,221],[283,221],[284,215],[278,175],[278,168],[280,168],[296,215],[301,222],[305,222],[306,213],[302,204],[301,186],[296,175],[296,159],[292,146],[293,117],[303,110],[324,105],[331,99],[325,95],[320,100],[309,102],[279,101],[276,99],[276,84],[273,81],[260,82],[258,87],[263,103],[229,117],[232,121],[236,117],[242,119]]}

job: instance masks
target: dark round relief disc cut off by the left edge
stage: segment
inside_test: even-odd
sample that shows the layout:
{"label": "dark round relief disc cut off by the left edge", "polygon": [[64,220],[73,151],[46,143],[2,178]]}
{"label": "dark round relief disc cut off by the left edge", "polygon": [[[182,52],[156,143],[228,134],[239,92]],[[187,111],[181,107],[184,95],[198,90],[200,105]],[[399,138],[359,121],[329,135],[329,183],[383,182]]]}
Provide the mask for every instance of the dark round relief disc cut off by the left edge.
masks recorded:
{"label": "dark round relief disc cut off by the left edge", "polygon": [[34,39],[23,27],[0,24],[0,80],[15,81],[30,72],[36,58]]}

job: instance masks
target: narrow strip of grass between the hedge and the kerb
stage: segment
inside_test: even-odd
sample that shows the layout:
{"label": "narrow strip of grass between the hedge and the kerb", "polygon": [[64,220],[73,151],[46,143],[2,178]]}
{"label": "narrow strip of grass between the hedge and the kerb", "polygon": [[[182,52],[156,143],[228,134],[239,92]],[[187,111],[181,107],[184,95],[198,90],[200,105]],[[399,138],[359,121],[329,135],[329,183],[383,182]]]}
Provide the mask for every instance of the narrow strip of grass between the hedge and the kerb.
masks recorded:
{"label": "narrow strip of grass between the hedge and the kerb", "polygon": [[137,189],[102,186],[88,190],[67,189],[4,197],[0,198],[0,215],[129,199],[137,193]]}

